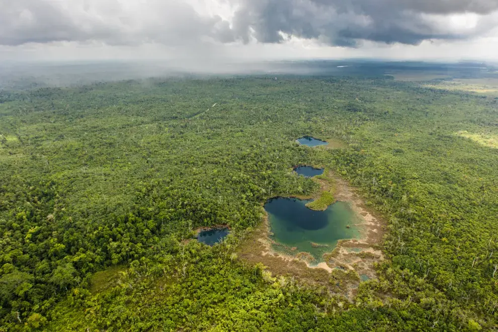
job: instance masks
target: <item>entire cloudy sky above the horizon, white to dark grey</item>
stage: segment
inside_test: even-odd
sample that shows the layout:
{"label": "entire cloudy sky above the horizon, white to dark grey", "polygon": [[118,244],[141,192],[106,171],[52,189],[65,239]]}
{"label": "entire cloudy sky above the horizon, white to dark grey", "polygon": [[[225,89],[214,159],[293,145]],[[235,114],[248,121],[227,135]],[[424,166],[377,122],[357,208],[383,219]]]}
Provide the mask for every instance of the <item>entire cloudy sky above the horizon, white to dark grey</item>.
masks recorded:
{"label": "entire cloudy sky above the horizon, white to dark grey", "polygon": [[498,0],[0,0],[0,60],[498,60]]}

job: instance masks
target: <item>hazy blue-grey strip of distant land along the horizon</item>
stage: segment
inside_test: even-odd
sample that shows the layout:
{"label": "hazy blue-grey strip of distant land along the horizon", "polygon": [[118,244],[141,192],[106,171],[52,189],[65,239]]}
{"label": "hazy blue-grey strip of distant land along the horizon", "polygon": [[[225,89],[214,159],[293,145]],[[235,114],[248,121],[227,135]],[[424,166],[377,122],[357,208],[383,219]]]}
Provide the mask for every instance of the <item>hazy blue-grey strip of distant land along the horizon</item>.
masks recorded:
{"label": "hazy blue-grey strip of distant land along the horizon", "polygon": [[[417,79],[433,78],[498,78],[498,68],[489,62],[417,62],[368,59],[281,60],[281,61],[218,61],[210,65],[181,61],[10,61],[0,64],[0,89],[33,89],[67,87],[94,82],[148,78],[194,77],[211,75],[267,76],[285,79],[285,75],[326,75],[385,77],[401,74]],[[427,78],[425,78],[427,79]]]}

